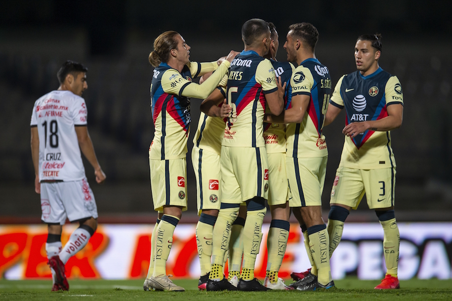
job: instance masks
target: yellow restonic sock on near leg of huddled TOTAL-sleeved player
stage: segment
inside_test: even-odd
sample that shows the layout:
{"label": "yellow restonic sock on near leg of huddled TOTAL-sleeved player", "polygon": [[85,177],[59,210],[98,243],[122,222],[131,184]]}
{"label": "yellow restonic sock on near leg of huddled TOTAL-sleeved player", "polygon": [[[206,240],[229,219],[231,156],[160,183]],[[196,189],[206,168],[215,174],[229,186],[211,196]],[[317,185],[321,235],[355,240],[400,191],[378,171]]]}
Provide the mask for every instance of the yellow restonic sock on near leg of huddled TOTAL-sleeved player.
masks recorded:
{"label": "yellow restonic sock on near leg of huddled TOTAL-sleeved player", "polygon": [[325,224],[309,227],[309,249],[317,267],[317,281],[322,285],[332,281],[329,266],[329,237]]}

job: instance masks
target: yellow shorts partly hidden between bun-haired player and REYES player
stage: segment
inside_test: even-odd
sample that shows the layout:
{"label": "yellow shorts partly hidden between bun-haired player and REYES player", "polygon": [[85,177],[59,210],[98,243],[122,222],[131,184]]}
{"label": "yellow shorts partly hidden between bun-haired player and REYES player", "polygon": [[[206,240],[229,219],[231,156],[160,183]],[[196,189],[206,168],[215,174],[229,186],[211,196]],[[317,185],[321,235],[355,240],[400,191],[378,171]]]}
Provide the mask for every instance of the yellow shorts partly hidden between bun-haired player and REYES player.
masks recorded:
{"label": "yellow shorts partly hidden between bun-haired player and REYES player", "polygon": [[193,146],[191,162],[196,176],[198,215],[202,210],[220,209],[221,167],[220,156],[209,150]]}

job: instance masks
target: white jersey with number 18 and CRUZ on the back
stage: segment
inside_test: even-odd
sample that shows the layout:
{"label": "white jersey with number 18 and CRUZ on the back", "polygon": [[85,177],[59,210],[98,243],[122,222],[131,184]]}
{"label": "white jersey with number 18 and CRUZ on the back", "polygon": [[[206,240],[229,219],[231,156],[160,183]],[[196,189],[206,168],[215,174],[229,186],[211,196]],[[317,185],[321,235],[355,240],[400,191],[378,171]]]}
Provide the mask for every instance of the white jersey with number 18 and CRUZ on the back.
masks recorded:
{"label": "white jersey with number 18 and CRUZ on the back", "polygon": [[39,180],[85,178],[75,126],[86,126],[85,100],[71,91],[52,91],[33,107],[30,126],[38,127]]}

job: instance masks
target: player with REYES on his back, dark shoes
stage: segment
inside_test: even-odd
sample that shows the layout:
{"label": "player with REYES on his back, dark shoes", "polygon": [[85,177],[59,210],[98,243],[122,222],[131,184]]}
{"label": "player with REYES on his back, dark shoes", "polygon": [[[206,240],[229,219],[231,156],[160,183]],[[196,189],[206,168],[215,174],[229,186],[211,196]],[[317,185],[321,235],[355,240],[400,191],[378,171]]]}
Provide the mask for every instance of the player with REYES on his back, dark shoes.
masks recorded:
{"label": "player with REYES on his back, dark shoes", "polygon": [[[262,56],[268,53],[270,30],[261,19],[242,27],[245,50],[231,63],[227,100],[231,113],[221,145],[221,206],[213,227],[212,265],[207,290],[267,290],[254,278],[254,264],[262,239],[262,223],[268,193],[267,154],[263,137],[265,103],[276,115],[283,109],[282,87],[278,87],[272,64]],[[238,287],[221,272],[229,248],[231,226],[242,202],[248,213],[244,226],[244,258]]]}

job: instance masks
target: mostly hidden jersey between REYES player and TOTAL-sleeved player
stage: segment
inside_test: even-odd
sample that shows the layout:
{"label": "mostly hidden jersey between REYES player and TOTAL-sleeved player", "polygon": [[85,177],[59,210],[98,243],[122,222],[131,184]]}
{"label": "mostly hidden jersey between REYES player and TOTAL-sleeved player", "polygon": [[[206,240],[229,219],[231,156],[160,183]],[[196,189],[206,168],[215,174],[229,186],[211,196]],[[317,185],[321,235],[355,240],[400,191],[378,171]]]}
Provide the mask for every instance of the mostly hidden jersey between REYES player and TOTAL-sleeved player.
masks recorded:
{"label": "mostly hidden jersey between REYES player and TOTAL-sleeved player", "polygon": [[[284,109],[287,109],[292,100],[292,88],[290,78],[295,67],[289,62],[277,62],[270,60],[277,77],[281,77],[281,84],[286,83],[284,91]],[[268,108],[268,106],[267,106]],[[266,108],[266,109],[267,109]],[[286,125],[284,123],[265,123],[264,140],[267,154],[286,152]]]}

